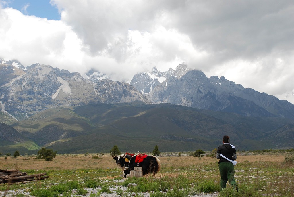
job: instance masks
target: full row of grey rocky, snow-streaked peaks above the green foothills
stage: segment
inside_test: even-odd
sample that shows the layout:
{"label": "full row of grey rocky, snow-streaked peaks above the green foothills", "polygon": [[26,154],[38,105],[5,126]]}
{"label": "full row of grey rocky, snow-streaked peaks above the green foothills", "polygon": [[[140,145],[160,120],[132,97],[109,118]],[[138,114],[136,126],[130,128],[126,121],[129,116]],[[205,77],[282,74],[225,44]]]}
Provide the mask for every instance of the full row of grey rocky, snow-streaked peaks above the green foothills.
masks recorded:
{"label": "full row of grey rocky, snow-streaked peaks above the green foothills", "polygon": [[153,67],[134,75],[128,84],[110,80],[96,70],[82,77],[50,65],[36,63],[22,69],[11,65],[15,60],[2,62],[6,63],[0,64],[0,110],[20,120],[47,108],[132,101],[294,119],[290,102],[244,88],[225,77],[208,78],[184,63],[165,72]]}

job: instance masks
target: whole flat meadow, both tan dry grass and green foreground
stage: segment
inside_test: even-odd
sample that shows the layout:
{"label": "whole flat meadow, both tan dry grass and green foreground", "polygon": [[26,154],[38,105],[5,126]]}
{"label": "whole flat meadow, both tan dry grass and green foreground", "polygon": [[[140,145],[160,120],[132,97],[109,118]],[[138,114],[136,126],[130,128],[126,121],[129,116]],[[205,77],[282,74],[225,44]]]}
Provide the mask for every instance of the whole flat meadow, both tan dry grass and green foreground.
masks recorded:
{"label": "whole flat meadow, both tan dry grass and green foreground", "polygon": [[[183,154],[183,153],[182,153]],[[220,191],[218,160],[211,156],[159,157],[161,171],[155,177],[123,179],[113,158],[105,154],[58,154],[52,161],[0,157],[0,169],[19,169],[28,174],[46,172],[48,180],[26,184],[0,184],[0,191],[25,189],[34,196],[193,196],[217,192],[218,196],[294,196],[293,152],[238,152],[235,180],[239,191],[229,185]],[[126,187],[129,183],[136,183]],[[95,192],[87,192],[94,188]],[[24,193],[14,196],[27,196]]]}

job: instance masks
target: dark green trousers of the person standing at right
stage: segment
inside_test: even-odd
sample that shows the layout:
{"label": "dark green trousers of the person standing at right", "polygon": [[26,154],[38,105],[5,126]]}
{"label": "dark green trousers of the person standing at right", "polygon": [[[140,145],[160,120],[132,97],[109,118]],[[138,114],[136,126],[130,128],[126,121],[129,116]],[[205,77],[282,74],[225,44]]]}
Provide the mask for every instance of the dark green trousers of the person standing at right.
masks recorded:
{"label": "dark green trousers of the person standing at right", "polygon": [[220,189],[226,187],[227,181],[229,181],[230,185],[237,189],[237,183],[234,178],[234,165],[231,162],[220,162]]}

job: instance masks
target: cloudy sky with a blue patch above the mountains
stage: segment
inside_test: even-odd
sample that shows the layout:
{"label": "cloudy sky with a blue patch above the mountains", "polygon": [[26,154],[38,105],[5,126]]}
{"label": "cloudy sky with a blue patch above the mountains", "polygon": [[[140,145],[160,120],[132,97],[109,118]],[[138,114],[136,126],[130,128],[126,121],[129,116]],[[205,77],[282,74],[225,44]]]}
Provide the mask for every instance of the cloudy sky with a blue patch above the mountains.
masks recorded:
{"label": "cloudy sky with a blue patch above the mountains", "polygon": [[294,103],[294,1],[0,0],[0,57],[120,81],[186,62]]}

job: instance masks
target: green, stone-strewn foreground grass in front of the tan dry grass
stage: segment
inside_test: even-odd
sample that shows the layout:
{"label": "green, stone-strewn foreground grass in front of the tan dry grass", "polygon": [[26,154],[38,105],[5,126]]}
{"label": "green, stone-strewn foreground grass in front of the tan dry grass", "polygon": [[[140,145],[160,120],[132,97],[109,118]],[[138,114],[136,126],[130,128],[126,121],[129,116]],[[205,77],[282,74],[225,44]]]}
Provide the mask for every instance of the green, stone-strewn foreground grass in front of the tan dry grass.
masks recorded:
{"label": "green, stone-strewn foreground grass in front of the tan dry grass", "polygon": [[[275,155],[273,155],[275,156]],[[287,158],[289,153],[285,155]],[[255,156],[251,156],[255,157]],[[179,158],[171,158],[170,161]],[[185,162],[188,158],[181,157]],[[189,158],[203,161],[203,158]],[[250,159],[249,159],[250,160]],[[42,196],[70,196],[85,194],[84,188],[95,188],[100,193],[119,193],[120,196],[142,196],[149,192],[151,197],[186,197],[202,192],[218,192],[219,197],[261,197],[261,196],[294,196],[294,163],[283,161],[244,161],[235,166],[235,180],[239,191],[227,184],[227,188],[220,190],[218,164],[200,162],[197,165],[185,167],[166,166],[162,163],[161,176],[127,178],[119,177],[119,168],[106,169],[71,169],[71,170],[39,170],[49,175],[48,180],[37,183],[20,185],[1,184],[0,191],[26,189],[31,195]],[[29,174],[35,170],[27,171]],[[131,183],[131,186],[125,189]],[[46,191],[45,191],[46,190]],[[97,196],[92,193],[91,196]]]}

